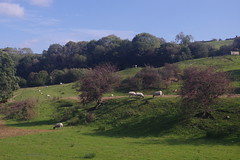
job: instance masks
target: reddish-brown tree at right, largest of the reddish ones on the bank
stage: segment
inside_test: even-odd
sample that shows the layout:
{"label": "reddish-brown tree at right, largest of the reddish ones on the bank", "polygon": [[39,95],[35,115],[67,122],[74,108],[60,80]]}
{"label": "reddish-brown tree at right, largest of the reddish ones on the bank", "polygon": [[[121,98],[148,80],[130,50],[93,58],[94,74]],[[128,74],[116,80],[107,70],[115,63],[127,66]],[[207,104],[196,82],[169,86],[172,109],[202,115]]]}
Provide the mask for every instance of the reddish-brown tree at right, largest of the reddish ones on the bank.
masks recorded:
{"label": "reddish-brown tree at right, largest of the reddish ones on the bank", "polygon": [[181,88],[182,109],[187,115],[212,117],[211,105],[220,95],[230,91],[230,75],[213,67],[191,67],[184,70]]}

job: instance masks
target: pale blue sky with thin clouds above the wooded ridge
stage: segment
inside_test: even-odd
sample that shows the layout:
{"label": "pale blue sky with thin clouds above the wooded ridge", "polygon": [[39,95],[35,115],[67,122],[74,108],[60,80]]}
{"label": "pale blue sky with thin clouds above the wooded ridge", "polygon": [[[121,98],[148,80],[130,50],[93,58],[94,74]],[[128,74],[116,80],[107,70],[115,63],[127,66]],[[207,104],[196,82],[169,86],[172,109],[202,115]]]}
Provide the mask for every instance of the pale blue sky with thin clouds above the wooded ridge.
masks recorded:
{"label": "pale blue sky with thin clouds above the wooded ridge", "polygon": [[175,41],[240,36],[240,0],[0,0],[0,48],[90,41],[150,33]]}

